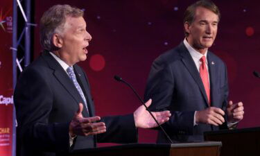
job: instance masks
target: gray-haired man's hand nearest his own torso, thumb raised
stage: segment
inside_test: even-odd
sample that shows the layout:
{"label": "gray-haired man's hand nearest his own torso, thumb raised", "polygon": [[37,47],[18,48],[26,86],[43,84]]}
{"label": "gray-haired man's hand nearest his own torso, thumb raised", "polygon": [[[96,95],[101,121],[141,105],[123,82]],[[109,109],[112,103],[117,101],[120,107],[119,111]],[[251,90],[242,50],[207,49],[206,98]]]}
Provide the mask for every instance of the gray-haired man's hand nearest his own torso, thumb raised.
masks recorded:
{"label": "gray-haired man's hand nearest his own torso, thumb raised", "polygon": [[78,111],[75,113],[71,123],[69,124],[69,135],[75,137],[77,135],[97,135],[106,131],[105,123],[96,122],[101,120],[99,116],[84,118],[82,115],[83,104],[79,103]]}

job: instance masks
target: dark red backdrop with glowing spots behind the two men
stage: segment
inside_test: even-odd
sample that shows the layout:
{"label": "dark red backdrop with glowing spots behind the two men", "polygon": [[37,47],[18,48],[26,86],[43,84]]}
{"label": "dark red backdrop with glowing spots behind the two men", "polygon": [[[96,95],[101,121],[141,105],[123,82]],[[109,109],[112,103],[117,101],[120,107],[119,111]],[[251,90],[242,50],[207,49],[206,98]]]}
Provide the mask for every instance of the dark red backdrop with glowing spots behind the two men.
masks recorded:
{"label": "dark red backdrop with glowing spots behind the two men", "polygon": [[[35,1],[35,21],[39,24],[44,10],[68,3],[85,9],[87,31],[92,35],[88,58],[80,62],[92,86],[96,114],[127,114],[141,103],[125,85],[113,80],[115,74],[144,94],[150,65],[158,55],[184,39],[184,10],[194,1]],[[229,71],[229,99],[245,105],[245,118],[239,128],[260,125],[259,5],[253,1],[214,1],[220,8],[218,36],[211,51],[222,58]],[[35,57],[39,55],[39,27],[35,28]],[[154,130],[139,130],[139,141],[155,142]]]}

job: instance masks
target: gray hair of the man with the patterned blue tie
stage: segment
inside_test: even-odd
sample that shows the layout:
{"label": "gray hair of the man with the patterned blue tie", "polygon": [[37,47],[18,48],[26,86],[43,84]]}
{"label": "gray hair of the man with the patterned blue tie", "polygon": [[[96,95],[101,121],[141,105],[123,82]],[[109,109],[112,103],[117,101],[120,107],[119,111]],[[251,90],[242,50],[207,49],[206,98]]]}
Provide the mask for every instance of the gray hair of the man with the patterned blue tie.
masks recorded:
{"label": "gray hair of the man with the patterned blue tie", "polygon": [[61,34],[64,30],[66,17],[83,17],[84,12],[69,5],[55,5],[44,12],[40,20],[40,43],[47,51],[57,49],[53,45],[52,37],[55,33]]}

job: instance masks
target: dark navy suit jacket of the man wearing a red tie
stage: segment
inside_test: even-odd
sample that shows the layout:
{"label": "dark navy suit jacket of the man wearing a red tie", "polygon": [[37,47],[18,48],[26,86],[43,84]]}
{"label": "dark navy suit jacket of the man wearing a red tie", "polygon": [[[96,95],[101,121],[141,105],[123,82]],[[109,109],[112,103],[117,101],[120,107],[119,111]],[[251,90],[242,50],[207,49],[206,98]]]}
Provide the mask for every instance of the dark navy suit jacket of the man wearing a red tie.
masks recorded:
{"label": "dark navy suit jacket of the man wearing a red tie", "polygon": [[[211,106],[225,111],[227,69],[224,62],[210,51],[207,62]],[[171,110],[172,116],[164,128],[173,141],[201,141],[203,132],[218,130],[218,127],[208,124],[193,126],[194,112],[205,110],[209,105],[200,73],[183,42],[153,62],[144,96],[145,100],[153,99],[151,110]],[[168,142],[160,130],[157,141]]]}

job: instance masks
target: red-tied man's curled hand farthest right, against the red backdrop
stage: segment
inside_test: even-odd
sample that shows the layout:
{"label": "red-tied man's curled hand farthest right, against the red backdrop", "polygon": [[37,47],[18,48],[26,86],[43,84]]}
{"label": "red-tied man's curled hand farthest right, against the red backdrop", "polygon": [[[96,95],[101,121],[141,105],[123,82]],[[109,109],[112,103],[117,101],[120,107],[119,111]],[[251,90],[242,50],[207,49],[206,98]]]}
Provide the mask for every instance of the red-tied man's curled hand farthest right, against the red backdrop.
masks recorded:
{"label": "red-tied man's curled hand farthest right, against the red backdrop", "polygon": [[244,107],[243,103],[233,103],[229,101],[227,104],[227,122],[234,123],[243,119]]}

